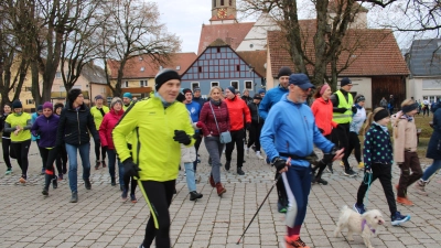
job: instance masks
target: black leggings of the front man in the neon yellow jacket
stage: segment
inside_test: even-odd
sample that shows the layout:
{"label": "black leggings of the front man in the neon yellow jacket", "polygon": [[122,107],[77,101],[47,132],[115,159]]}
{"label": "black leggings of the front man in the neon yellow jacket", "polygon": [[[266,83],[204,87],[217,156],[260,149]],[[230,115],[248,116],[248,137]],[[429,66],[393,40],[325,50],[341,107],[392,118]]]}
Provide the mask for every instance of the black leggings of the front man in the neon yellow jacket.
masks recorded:
{"label": "black leggings of the front man in the neon yellow jacket", "polygon": [[[170,213],[176,181],[142,181],[141,191],[146,192],[150,207],[150,218],[146,226],[144,247],[150,247],[155,239],[157,248],[170,248]],[[154,227],[154,216],[158,229]]]}

